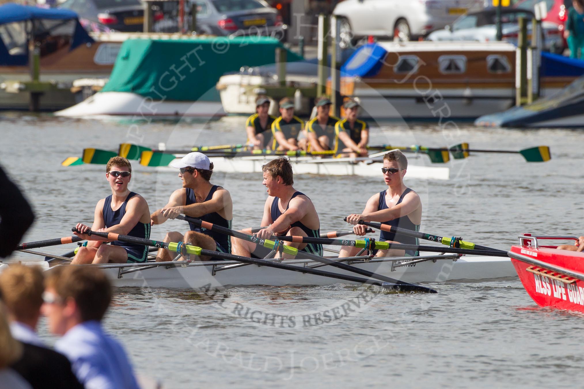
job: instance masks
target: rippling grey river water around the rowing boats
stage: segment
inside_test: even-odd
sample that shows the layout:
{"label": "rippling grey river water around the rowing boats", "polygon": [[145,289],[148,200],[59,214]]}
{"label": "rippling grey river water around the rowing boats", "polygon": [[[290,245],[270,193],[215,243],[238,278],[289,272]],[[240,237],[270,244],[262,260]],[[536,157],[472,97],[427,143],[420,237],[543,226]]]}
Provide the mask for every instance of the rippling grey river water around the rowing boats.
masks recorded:
{"label": "rippling grey river water around the rowing boats", "polygon": [[[80,156],[85,147],[117,149],[121,142],[165,142],[172,148],[239,143],[244,121],[136,124],[0,114],[0,164],[25,191],[37,217],[24,240],[68,236],[75,223],[92,222],[96,202],[110,193],[105,167],[60,166],[66,157]],[[476,129],[468,123],[445,128],[437,122],[391,122],[371,132],[372,144],[551,147],[547,163],[526,163],[513,154],[475,154],[448,164],[449,181],[406,180],[422,195],[423,232],[504,250],[520,233],[583,232],[578,220],[584,132]],[[425,157],[410,163],[429,165]],[[147,199],[151,211],[179,188],[176,173],[135,165],[134,171],[130,188]],[[260,174],[215,173],[211,181],[231,192],[234,228],[259,225],[266,198]],[[378,179],[297,176],[294,181],[314,202],[322,232],[348,229],[342,217],[360,212],[384,187],[381,174]],[[170,221],[155,226],[151,236],[162,239],[171,228],[184,226]],[[71,246],[39,251],[60,254]],[[31,256],[18,253],[12,259]],[[584,377],[584,350],[573,341],[584,330],[583,318],[538,309],[516,277],[429,285],[439,293],[388,294],[342,284],[228,288],[218,295],[118,288],[105,327],[126,346],[139,374],[169,388],[551,387],[558,379]],[[248,309],[279,316],[252,319]],[[315,319],[325,311],[338,314],[328,323]],[[44,321],[39,331],[54,341]]]}

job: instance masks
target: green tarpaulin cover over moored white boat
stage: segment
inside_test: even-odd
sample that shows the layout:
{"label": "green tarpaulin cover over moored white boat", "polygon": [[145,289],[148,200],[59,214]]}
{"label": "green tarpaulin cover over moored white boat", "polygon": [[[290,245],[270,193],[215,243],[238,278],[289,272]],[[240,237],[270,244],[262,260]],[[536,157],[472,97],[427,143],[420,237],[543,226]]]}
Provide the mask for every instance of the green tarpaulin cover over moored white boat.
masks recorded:
{"label": "green tarpaulin cover over moored white boat", "polygon": [[[224,73],[273,64],[278,47],[283,45],[270,37],[128,39],[102,92],[131,92],[152,100],[220,101],[215,85]],[[303,59],[290,50],[286,58]]]}

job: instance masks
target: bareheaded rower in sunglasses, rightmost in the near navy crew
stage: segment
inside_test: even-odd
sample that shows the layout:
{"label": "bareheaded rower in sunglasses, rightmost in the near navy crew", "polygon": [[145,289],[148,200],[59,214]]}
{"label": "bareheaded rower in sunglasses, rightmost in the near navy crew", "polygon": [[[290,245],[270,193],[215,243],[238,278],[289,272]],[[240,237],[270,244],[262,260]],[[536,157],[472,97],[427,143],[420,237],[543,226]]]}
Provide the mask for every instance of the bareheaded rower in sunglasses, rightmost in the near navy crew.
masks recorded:
{"label": "bareheaded rower in sunglasses, rightmost in the near navy crew", "polygon": [[[347,216],[347,222],[355,225],[353,232],[363,236],[366,226],[360,225],[359,220],[366,222],[381,222],[386,225],[418,231],[422,222],[422,201],[416,192],[406,187],[404,176],[408,169],[408,159],[399,150],[391,150],[383,156],[383,174],[387,189],[374,194],[367,201],[362,213],[352,213]],[[418,244],[418,238],[381,231],[380,241],[389,243]],[[339,257],[353,257],[359,248],[343,246]],[[413,250],[378,250],[378,257],[413,257],[418,255]]]}

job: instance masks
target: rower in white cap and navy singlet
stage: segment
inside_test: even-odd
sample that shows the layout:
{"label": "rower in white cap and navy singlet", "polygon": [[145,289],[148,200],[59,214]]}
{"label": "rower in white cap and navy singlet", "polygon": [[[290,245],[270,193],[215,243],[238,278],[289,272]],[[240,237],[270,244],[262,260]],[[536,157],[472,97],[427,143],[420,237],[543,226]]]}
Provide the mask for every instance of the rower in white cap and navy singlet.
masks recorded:
{"label": "rower in white cap and navy singlet", "polygon": [[[179,177],[183,187],[175,190],[168,204],[151,215],[152,224],[162,224],[168,219],[175,219],[180,214],[209,222],[214,225],[231,228],[233,204],[231,195],[224,188],[209,182],[213,174],[213,163],[202,153],[189,153],[179,161],[171,163],[172,167],[180,169]],[[166,234],[165,242],[184,241],[187,244],[204,248],[205,250],[231,253],[229,236],[194,226],[189,223],[190,230],[184,235],[173,231]],[[172,261],[176,253],[161,248],[156,260]],[[209,257],[201,257],[208,260]]]}

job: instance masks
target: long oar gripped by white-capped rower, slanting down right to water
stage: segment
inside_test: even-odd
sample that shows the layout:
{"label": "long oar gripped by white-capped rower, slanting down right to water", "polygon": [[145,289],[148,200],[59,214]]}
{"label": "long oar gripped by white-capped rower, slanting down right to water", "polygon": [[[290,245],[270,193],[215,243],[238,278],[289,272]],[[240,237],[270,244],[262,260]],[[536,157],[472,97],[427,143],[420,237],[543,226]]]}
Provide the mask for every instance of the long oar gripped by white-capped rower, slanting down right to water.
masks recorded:
{"label": "long oar gripped by white-capped rower, slanting down right to water", "polygon": [[[259,244],[259,246],[269,248],[270,250],[274,250],[274,248],[278,248],[279,250],[281,250],[285,254],[298,255],[297,248],[291,247],[291,246],[286,246],[286,245],[280,246],[279,243],[276,243],[276,241],[273,241],[273,240],[258,239],[255,236],[244,234],[244,233],[241,233],[241,232],[238,232],[235,230],[231,230],[231,229],[228,229],[225,227],[217,226],[217,225],[214,225],[212,223],[203,222],[202,220],[190,218],[189,216],[179,215],[179,216],[176,216],[176,219],[185,220],[189,223],[193,223],[194,225],[203,227],[207,230],[220,232],[220,233],[227,234],[227,235],[230,235],[233,237],[237,237],[237,238],[242,239],[242,240],[248,240],[248,241],[251,241],[255,244]],[[274,239],[278,239],[278,237],[274,237]],[[401,290],[404,290],[404,291],[437,293],[436,290],[426,288],[425,286],[415,285],[413,283],[408,283],[408,282],[404,282],[404,281],[399,281],[397,279],[386,277],[386,276],[381,275],[381,274],[376,274],[376,273],[367,271],[365,269],[356,268],[356,267],[344,264],[342,262],[333,261],[333,260],[330,260],[329,258],[319,257],[318,255],[306,253],[305,251],[302,251],[302,255],[303,255],[303,257],[306,257],[310,260],[314,260],[317,262],[321,262],[322,264],[325,264],[325,265],[331,265],[333,267],[338,267],[338,268],[346,270],[346,271],[350,271],[350,272],[364,275],[367,277],[375,278],[375,279],[378,279],[380,281],[397,284],[397,285],[399,285],[399,288]]]}

